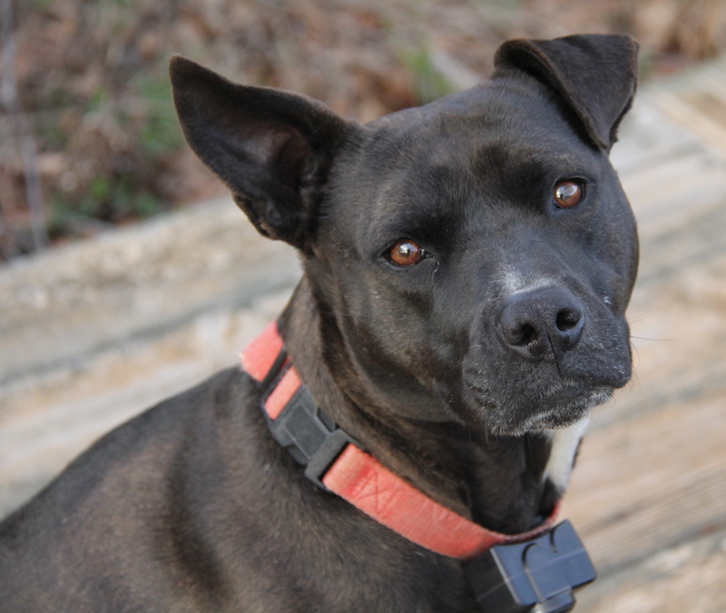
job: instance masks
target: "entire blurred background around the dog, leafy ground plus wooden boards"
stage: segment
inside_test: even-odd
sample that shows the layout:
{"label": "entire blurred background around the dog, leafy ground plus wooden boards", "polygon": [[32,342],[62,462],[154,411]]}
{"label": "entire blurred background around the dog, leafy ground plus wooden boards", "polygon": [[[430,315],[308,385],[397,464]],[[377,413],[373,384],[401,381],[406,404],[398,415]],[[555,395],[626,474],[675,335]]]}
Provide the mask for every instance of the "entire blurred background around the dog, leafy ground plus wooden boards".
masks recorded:
{"label": "entire blurred background around the dog, leafy ground plus wooden boards", "polygon": [[599,572],[576,610],[726,610],[726,0],[0,0],[0,517],[299,279],[184,143],[172,54],[366,122],[584,32],[641,44],[612,159],[642,260],[635,377],[565,498]]}

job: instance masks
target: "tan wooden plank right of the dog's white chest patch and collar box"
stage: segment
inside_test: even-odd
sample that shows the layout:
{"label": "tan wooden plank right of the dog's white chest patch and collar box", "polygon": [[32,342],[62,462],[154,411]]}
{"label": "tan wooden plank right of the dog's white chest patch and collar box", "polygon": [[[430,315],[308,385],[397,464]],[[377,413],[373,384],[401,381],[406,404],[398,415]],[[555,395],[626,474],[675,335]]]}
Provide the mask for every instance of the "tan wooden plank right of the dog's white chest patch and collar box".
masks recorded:
{"label": "tan wooden plank right of the dog's white chest patch and collar box", "polygon": [[595,425],[564,516],[603,573],[726,527],[726,402],[721,393]]}

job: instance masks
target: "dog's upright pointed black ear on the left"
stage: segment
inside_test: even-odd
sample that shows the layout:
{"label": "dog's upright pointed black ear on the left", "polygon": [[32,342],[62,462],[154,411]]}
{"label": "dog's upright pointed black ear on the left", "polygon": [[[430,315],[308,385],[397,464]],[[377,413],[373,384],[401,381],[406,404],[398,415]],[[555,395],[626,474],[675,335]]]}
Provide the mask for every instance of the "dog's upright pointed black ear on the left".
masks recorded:
{"label": "dog's upright pointed black ear on the left", "polygon": [[306,249],[319,187],[351,124],[305,96],[233,84],[178,55],[170,73],[194,153],[260,233]]}

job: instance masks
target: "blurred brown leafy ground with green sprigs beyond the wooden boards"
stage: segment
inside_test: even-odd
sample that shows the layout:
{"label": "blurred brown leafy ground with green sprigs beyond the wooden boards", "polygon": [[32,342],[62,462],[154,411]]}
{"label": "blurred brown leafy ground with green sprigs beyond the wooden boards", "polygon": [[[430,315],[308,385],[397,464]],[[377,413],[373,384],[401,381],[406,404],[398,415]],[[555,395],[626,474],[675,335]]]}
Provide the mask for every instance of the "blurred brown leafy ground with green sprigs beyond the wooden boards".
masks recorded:
{"label": "blurred brown leafy ground with green sprigs beyond the wooden boards", "polygon": [[0,0],[0,259],[211,195],[173,53],[366,122],[490,74],[508,38],[624,32],[642,75],[726,46],[721,0]]}

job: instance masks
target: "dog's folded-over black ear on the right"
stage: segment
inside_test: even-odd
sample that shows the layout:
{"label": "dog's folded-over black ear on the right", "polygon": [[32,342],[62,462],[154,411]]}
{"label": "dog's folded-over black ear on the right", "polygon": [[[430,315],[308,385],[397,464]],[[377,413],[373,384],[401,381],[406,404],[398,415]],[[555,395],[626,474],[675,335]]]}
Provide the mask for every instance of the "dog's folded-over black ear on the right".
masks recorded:
{"label": "dog's folded-over black ear on the right", "polygon": [[638,44],[626,35],[512,40],[495,55],[498,71],[519,69],[561,94],[595,145],[608,151],[633,102]]}

